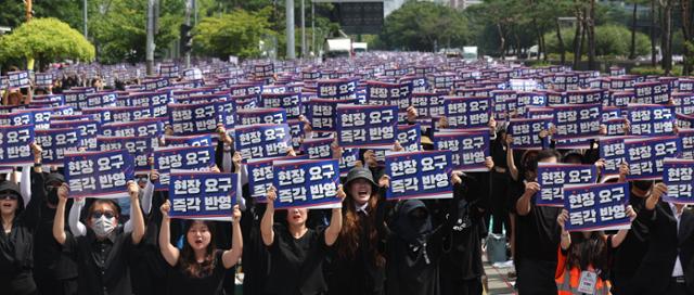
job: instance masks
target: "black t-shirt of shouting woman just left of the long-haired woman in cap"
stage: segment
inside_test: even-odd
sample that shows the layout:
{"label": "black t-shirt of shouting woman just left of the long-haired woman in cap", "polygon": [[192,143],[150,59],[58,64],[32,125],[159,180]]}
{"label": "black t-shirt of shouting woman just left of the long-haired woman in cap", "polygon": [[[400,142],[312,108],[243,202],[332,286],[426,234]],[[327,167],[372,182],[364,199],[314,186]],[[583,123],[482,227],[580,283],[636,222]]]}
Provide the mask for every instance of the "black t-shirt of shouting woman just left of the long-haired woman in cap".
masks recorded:
{"label": "black t-shirt of shouting woman just left of the long-haired woman in cap", "polygon": [[323,278],[323,260],[329,246],[323,229],[308,231],[294,239],[290,230],[277,223],[274,242],[270,251],[270,277],[266,284],[268,294],[320,294],[326,291]]}

